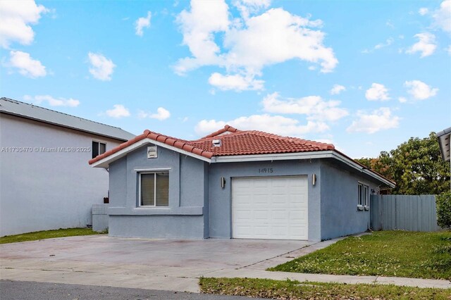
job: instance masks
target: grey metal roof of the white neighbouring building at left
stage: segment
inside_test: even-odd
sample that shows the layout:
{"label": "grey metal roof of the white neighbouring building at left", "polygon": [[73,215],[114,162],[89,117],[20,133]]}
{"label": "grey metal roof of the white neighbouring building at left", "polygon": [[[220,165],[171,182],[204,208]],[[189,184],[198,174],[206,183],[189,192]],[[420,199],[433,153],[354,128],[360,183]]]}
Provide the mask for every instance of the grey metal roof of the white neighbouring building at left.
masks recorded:
{"label": "grey metal roof of the white neighbouring building at left", "polygon": [[122,130],[119,127],[113,127],[91,120],[75,117],[66,113],[52,111],[48,108],[27,104],[9,98],[0,98],[0,113],[8,113],[9,115],[18,115],[31,120],[39,120],[44,123],[54,124],[62,127],[68,127],[75,130],[94,133],[104,137],[111,137],[127,141],[135,135]]}

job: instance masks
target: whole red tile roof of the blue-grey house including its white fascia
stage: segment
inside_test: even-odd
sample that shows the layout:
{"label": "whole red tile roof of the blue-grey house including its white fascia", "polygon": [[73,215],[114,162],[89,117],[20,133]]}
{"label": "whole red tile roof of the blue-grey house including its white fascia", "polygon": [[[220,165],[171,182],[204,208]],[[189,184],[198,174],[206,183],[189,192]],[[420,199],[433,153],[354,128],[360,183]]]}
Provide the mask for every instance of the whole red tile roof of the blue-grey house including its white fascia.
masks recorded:
{"label": "whole red tile roof of the blue-grey house including its white fascia", "polygon": [[[219,146],[214,146],[218,140]],[[126,156],[145,144],[156,144],[188,156],[194,156],[209,163],[227,163],[236,161],[274,161],[286,159],[335,158],[366,175],[376,178],[385,185],[395,187],[395,182],[388,180],[361,163],[345,156],[335,149],[333,144],[282,137],[257,130],[237,130],[229,125],[201,139],[187,141],[144,130],[128,142],[106,151],[89,161],[94,167],[108,168],[109,163]]]}

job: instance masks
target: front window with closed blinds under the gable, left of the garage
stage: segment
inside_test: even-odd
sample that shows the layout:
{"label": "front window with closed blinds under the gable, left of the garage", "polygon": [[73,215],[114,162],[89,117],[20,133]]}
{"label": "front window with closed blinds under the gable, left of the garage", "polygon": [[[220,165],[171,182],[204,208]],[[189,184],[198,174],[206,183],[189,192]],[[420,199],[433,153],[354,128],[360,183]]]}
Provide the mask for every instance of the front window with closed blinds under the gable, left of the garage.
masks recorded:
{"label": "front window with closed blinds under the gable, left of the garage", "polygon": [[169,172],[140,173],[140,206],[169,206]]}

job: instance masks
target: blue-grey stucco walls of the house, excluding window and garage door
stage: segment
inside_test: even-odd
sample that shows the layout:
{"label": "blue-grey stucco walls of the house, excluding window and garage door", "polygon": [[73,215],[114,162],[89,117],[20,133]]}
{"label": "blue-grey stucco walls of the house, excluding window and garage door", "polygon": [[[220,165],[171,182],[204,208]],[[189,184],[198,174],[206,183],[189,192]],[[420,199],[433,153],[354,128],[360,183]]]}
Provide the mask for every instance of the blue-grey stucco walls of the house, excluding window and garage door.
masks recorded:
{"label": "blue-grey stucco walls of the house, excluding window and garage door", "polygon": [[[172,239],[233,236],[231,182],[234,177],[307,175],[309,240],[319,241],[364,232],[369,211],[357,210],[358,182],[378,191],[367,175],[334,160],[206,163],[157,147],[158,157],[147,158],[147,146],[110,164],[109,235]],[[259,173],[271,168],[272,173]],[[168,170],[169,206],[138,206],[139,173]],[[312,175],[316,185],[312,185]],[[226,187],[221,187],[221,177]]]}

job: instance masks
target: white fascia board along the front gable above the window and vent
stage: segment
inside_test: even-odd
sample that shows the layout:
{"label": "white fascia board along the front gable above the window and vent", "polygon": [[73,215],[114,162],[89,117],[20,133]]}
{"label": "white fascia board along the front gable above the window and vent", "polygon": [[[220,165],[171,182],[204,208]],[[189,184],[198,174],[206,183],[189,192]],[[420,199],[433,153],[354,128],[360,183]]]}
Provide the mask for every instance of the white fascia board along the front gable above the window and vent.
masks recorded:
{"label": "white fascia board along the front gable above the window and vent", "polygon": [[135,144],[131,144],[128,147],[125,147],[124,149],[121,149],[120,151],[117,151],[115,154],[111,154],[110,156],[106,156],[106,158],[102,158],[100,161],[96,161],[95,163],[92,163],[92,167],[94,168],[108,168],[109,164],[112,161],[116,161],[116,159],[121,158],[125,155],[128,154],[128,152],[133,151],[135,149],[140,148],[140,146],[144,146],[146,144],[154,144],[156,146],[161,146],[163,148],[178,152],[180,154],[184,154],[186,156],[191,156],[197,159],[200,159],[201,161],[206,161],[207,163],[211,163],[211,159],[210,158],[206,158],[204,156],[200,156],[197,154],[194,154],[192,152],[183,150],[183,149],[178,149],[175,146],[170,146],[168,144],[164,144],[162,142],[157,142],[154,139],[149,139],[148,137],[145,139],[142,139],[138,142],[136,142]]}

